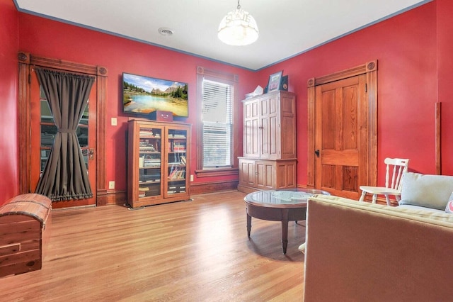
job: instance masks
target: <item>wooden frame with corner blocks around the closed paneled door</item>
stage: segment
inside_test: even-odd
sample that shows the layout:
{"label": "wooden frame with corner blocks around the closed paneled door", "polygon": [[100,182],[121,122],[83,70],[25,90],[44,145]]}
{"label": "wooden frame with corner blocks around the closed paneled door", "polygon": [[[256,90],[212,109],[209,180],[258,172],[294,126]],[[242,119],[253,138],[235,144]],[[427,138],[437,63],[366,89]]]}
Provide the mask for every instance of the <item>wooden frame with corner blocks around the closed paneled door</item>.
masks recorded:
{"label": "wooden frame with corner blocks around the closed paneled door", "polygon": [[367,184],[360,184],[365,186],[377,185],[377,60],[366,62],[365,64],[345,69],[340,72],[328,74],[323,77],[311,78],[307,81],[308,91],[308,145],[307,145],[307,180],[306,186],[309,188],[315,187],[316,180],[316,157],[315,150],[315,100],[316,100],[316,86],[336,82],[348,77],[355,77],[360,74],[367,75],[366,92],[368,97],[368,111],[367,111],[367,135],[368,135],[368,150],[367,150],[367,169],[366,179]]}

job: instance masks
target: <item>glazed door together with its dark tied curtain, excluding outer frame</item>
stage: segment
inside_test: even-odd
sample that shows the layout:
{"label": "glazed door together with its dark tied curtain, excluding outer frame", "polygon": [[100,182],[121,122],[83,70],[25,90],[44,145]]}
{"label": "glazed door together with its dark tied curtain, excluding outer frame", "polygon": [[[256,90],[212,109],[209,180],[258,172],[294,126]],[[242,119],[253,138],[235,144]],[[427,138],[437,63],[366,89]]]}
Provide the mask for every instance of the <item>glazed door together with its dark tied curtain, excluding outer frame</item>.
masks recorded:
{"label": "glazed door together with its dark tied curtain, excluding outer frame", "polygon": [[95,78],[39,67],[31,78],[32,108],[40,109],[31,111],[31,164],[40,170],[32,169],[31,189],[54,208],[95,205]]}

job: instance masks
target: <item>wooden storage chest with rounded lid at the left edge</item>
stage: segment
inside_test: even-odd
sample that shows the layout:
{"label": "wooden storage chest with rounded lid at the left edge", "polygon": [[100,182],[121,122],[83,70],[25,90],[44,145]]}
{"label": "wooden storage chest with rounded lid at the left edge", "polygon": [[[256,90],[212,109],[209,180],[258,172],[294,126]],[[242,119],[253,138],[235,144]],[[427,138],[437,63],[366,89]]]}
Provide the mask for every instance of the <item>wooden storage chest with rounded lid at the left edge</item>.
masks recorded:
{"label": "wooden storage chest with rounded lid at the left edge", "polygon": [[0,277],[42,267],[42,250],[50,237],[52,201],[22,194],[0,206]]}

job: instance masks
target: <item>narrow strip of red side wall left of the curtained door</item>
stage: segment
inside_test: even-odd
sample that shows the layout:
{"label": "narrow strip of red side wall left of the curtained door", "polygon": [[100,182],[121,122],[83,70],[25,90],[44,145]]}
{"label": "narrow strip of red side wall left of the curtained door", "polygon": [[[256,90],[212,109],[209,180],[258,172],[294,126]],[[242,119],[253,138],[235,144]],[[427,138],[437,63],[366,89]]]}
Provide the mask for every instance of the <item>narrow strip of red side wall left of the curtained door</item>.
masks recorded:
{"label": "narrow strip of red side wall left of the curtained door", "polygon": [[11,0],[0,0],[0,205],[18,194],[18,20]]}

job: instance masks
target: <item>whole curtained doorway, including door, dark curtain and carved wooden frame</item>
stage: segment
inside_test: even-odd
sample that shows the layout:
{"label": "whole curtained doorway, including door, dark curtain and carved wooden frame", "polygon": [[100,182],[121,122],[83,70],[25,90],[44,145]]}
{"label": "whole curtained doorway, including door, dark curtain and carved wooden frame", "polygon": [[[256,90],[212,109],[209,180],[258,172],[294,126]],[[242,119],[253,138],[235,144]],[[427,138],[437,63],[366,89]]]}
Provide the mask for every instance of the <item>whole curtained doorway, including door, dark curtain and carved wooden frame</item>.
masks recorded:
{"label": "whole curtained doorway, including door, dark curtain and carved wooden frame", "polygon": [[[48,196],[52,208],[105,204],[105,162],[98,160],[105,152],[105,128],[98,127],[98,103],[104,111],[106,77],[99,77],[98,67],[28,59],[23,64],[19,55],[19,89],[28,92],[19,97],[24,109],[19,114],[30,117],[29,125],[19,119],[24,133],[19,145],[25,151],[19,162],[30,172],[21,174],[21,193]],[[27,73],[28,82],[23,81]]]}

